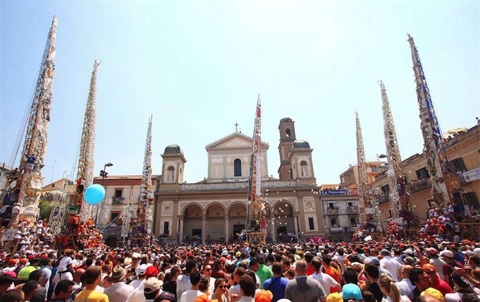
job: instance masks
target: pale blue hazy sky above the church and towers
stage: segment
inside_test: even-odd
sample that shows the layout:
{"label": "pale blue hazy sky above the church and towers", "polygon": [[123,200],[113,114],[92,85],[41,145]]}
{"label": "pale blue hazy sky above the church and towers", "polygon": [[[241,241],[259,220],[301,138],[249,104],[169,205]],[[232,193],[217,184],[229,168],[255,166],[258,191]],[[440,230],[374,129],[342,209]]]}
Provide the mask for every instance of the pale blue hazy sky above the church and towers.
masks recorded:
{"label": "pale blue hazy sky above the church and towers", "polygon": [[56,14],[44,185],[71,173],[95,58],[96,175],[107,162],[110,175],[142,173],[152,114],[153,174],[165,147],[178,144],[184,179],[198,182],[207,144],[235,123],[251,136],[260,94],[269,174],[278,177],[278,125],[290,117],[314,149],[317,184],[339,183],[357,162],[356,110],[367,160],[385,153],[379,80],[403,158],[422,151],[407,33],[442,130],[476,125],[479,3],[1,1],[0,162],[10,161]]}

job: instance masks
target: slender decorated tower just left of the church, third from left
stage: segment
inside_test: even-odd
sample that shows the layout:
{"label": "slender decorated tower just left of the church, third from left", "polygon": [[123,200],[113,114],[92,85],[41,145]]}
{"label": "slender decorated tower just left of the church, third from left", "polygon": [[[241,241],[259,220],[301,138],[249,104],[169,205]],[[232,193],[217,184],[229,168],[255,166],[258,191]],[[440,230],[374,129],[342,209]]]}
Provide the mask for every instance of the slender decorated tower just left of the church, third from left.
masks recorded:
{"label": "slender decorated tower just left of the church, third from left", "polygon": [[145,156],[143,159],[142,184],[140,185],[140,200],[138,223],[141,225],[145,239],[152,232],[153,223],[153,191],[152,191],[152,116],[148,119]]}

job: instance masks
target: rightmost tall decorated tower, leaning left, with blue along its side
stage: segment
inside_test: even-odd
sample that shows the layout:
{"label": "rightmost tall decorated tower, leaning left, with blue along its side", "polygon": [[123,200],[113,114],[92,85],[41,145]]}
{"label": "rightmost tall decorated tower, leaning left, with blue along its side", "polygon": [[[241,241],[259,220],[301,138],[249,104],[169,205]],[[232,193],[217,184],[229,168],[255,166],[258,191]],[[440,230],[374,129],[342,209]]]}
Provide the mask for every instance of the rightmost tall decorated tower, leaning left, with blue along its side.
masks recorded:
{"label": "rightmost tall decorated tower, leaning left, with blue along its side", "polygon": [[448,158],[443,143],[443,134],[433,108],[422,63],[418,56],[413,38],[408,35],[412,53],[413,73],[415,75],[418,108],[420,110],[420,128],[423,136],[424,153],[427,158],[427,170],[430,174],[431,194],[437,205],[450,200],[447,188]]}

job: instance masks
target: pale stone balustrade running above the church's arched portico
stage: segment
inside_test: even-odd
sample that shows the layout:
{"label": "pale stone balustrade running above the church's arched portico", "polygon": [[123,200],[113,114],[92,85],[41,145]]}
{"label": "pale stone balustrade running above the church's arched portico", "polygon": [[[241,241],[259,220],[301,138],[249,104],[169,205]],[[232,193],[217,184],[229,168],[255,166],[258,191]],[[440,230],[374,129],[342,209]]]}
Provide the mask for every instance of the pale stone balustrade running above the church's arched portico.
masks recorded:
{"label": "pale stone balustrade running above the church's arched portico", "polygon": [[[262,188],[294,188],[297,182],[290,180],[264,180],[261,182]],[[180,191],[214,191],[214,190],[246,190],[248,182],[231,183],[207,183],[207,184],[181,184]]]}

